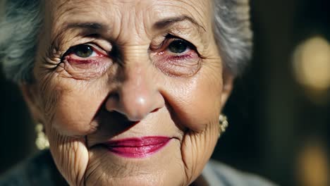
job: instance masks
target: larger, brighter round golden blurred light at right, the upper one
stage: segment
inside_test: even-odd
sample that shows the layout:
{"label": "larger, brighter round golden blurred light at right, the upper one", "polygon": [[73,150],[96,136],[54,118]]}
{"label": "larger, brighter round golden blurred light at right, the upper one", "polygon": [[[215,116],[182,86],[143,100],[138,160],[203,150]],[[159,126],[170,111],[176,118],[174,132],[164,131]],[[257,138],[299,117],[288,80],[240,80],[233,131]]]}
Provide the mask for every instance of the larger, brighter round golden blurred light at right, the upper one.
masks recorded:
{"label": "larger, brighter round golden blurred light at right, the upper one", "polygon": [[293,55],[293,70],[308,96],[317,103],[326,104],[330,89],[329,42],[319,36],[302,42]]}

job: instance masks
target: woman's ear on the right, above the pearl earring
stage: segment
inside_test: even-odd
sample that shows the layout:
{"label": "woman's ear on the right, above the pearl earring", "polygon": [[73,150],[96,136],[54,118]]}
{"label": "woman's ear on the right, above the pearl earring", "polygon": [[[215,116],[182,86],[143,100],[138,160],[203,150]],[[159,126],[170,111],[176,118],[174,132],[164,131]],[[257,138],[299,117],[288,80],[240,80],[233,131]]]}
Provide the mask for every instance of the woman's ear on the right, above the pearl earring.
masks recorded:
{"label": "woman's ear on the right, above the pearl earring", "polygon": [[233,82],[235,80],[235,76],[226,68],[224,68],[224,72],[222,73],[222,94],[221,94],[221,109],[224,108],[226,101],[231,96],[231,91],[233,90]]}

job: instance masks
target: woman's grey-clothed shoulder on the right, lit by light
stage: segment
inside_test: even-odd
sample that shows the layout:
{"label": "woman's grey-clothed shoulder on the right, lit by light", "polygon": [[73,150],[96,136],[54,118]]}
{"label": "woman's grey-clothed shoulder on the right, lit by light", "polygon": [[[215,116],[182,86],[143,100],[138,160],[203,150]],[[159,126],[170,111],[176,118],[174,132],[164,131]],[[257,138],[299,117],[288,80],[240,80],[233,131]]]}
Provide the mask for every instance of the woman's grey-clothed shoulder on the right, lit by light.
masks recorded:
{"label": "woman's grey-clothed shoulder on the right, lit by light", "polygon": [[250,173],[243,173],[234,168],[226,166],[224,163],[210,160],[205,166],[203,177],[209,182],[210,186],[275,186],[274,183],[269,182],[257,175]]}

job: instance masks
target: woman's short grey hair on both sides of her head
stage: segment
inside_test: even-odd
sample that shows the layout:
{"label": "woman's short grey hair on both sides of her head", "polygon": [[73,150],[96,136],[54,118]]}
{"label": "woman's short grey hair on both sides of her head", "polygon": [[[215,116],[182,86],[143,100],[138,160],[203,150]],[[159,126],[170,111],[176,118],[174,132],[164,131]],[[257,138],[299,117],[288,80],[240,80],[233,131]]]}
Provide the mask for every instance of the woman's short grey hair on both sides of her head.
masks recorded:
{"label": "woman's short grey hair on both sides of her head", "polygon": [[[14,82],[31,82],[42,27],[41,0],[7,0],[0,20],[0,63]],[[252,53],[248,0],[214,0],[214,37],[224,64],[239,75]],[[0,17],[1,18],[1,17]]]}

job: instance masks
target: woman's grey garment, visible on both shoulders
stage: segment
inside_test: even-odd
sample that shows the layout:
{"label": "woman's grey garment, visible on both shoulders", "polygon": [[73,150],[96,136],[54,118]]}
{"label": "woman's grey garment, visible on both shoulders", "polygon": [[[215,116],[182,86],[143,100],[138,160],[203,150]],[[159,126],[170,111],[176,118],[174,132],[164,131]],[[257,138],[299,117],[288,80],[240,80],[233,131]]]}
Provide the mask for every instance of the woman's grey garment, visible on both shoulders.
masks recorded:
{"label": "woman's grey garment, visible on both shoulders", "polygon": [[[41,151],[37,156],[20,163],[0,177],[0,186],[55,186],[59,176],[50,152]],[[273,186],[270,182],[247,173],[241,173],[216,161],[209,161],[202,175],[209,186]],[[57,184],[58,185],[58,184]],[[56,185],[56,186],[57,186]]]}

